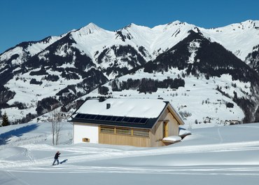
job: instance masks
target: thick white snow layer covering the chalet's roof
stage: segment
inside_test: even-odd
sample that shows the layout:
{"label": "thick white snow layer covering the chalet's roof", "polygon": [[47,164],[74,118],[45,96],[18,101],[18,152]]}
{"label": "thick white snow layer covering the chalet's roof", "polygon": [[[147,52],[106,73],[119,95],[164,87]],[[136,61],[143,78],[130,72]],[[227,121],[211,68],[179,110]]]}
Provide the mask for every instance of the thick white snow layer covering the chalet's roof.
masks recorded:
{"label": "thick white snow layer covering the chalet's roof", "polygon": [[[111,107],[106,109],[106,104],[111,104]],[[166,103],[162,100],[151,99],[108,99],[104,102],[99,102],[99,100],[87,100],[76,113],[158,118],[165,106]]]}

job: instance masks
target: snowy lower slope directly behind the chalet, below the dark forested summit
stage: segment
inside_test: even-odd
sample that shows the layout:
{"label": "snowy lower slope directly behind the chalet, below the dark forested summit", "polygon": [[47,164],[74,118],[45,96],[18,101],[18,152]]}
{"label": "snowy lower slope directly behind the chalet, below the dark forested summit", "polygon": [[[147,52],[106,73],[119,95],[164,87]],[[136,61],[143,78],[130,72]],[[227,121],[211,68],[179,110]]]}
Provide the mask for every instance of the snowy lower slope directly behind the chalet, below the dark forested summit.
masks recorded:
{"label": "snowy lower slope directly behind the chalet, below the dark forested summit", "polygon": [[[182,72],[174,69],[164,73],[148,74],[140,70],[136,74],[128,74],[117,78],[116,83],[122,83],[129,78],[133,80],[151,78],[153,80],[164,81],[168,76],[170,78],[178,78]],[[104,84],[104,86],[109,87],[108,94],[113,98],[160,98],[169,101],[190,128],[225,125],[229,124],[231,120],[241,121],[244,118],[244,112],[232,101],[231,97],[234,97],[233,91],[235,90],[237,90],[238,97],[246,97],[246,93],[250,93],[250,83],[232,81],[230,75],[223,75],[220,78],[210,78],[209,80],[202,77],[200,81],[197,81],[197,78],[194,76],[189,76],[184,78],[184,80],[186,82],[184,88],[158,88],[155,93],[139,93],[137,89],[112,91],[111,82]],[[234,84],[238,88],[234,88]],[[231,95],[231,97],[222,95],[216,90],[218,87],[223,87],[222,90]],[[85,97],[99,96],[101,95],[98,93],[98,89],[85,95]],[[232,108],[227,107],[226,103],[228,102],[234,106]]]}

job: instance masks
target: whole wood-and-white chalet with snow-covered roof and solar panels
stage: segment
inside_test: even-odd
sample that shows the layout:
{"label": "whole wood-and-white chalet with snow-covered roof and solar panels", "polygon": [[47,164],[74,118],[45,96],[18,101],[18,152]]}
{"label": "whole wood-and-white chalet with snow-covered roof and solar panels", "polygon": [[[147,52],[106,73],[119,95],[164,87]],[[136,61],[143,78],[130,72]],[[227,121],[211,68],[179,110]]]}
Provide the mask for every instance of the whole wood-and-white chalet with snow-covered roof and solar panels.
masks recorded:
{"label": "whole wood-and-white chalet with snow-covered roof and solar panels", "polygon": [[[169,102],[151,99],[86,100],[69,119],[73,142],[165,146],[183,120]],[[165,138],[165,139],[164,139]],[[164,139],[164,140],[163,140]]]}

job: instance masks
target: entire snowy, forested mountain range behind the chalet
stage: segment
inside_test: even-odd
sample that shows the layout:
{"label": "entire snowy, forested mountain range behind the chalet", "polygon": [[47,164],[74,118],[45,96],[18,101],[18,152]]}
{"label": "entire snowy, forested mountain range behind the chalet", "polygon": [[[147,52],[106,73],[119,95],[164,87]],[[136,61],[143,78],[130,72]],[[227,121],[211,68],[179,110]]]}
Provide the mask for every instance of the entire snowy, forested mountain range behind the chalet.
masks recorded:
{"label": "entire snowy, forested mountain range behind the chalet", "polygon": [[0,55],[9,121],[70,116],[87,97],[160,98],[190,127],[259,121],[259,21],[204,29],[186,22],[111,32],[90,23]]}

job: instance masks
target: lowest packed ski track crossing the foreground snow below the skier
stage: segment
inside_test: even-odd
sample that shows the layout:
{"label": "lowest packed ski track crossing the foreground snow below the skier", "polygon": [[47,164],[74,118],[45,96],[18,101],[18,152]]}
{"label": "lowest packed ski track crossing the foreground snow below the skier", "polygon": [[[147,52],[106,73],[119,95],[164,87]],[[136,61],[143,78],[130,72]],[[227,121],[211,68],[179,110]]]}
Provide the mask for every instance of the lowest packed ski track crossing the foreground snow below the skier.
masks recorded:
{"label": "lowest packed ski track crossing the foreground snow below the skier", "polygon": [[29,173],[138,173],[138,174],[211,174],[211,175],[241,175],[258,176],[258,166],[244,167],[97,167],[97,166],[78,166],[66,165],[65,167],[55,167],[55,169],[31,167],[22,170],[8,170],[11,172]]}

